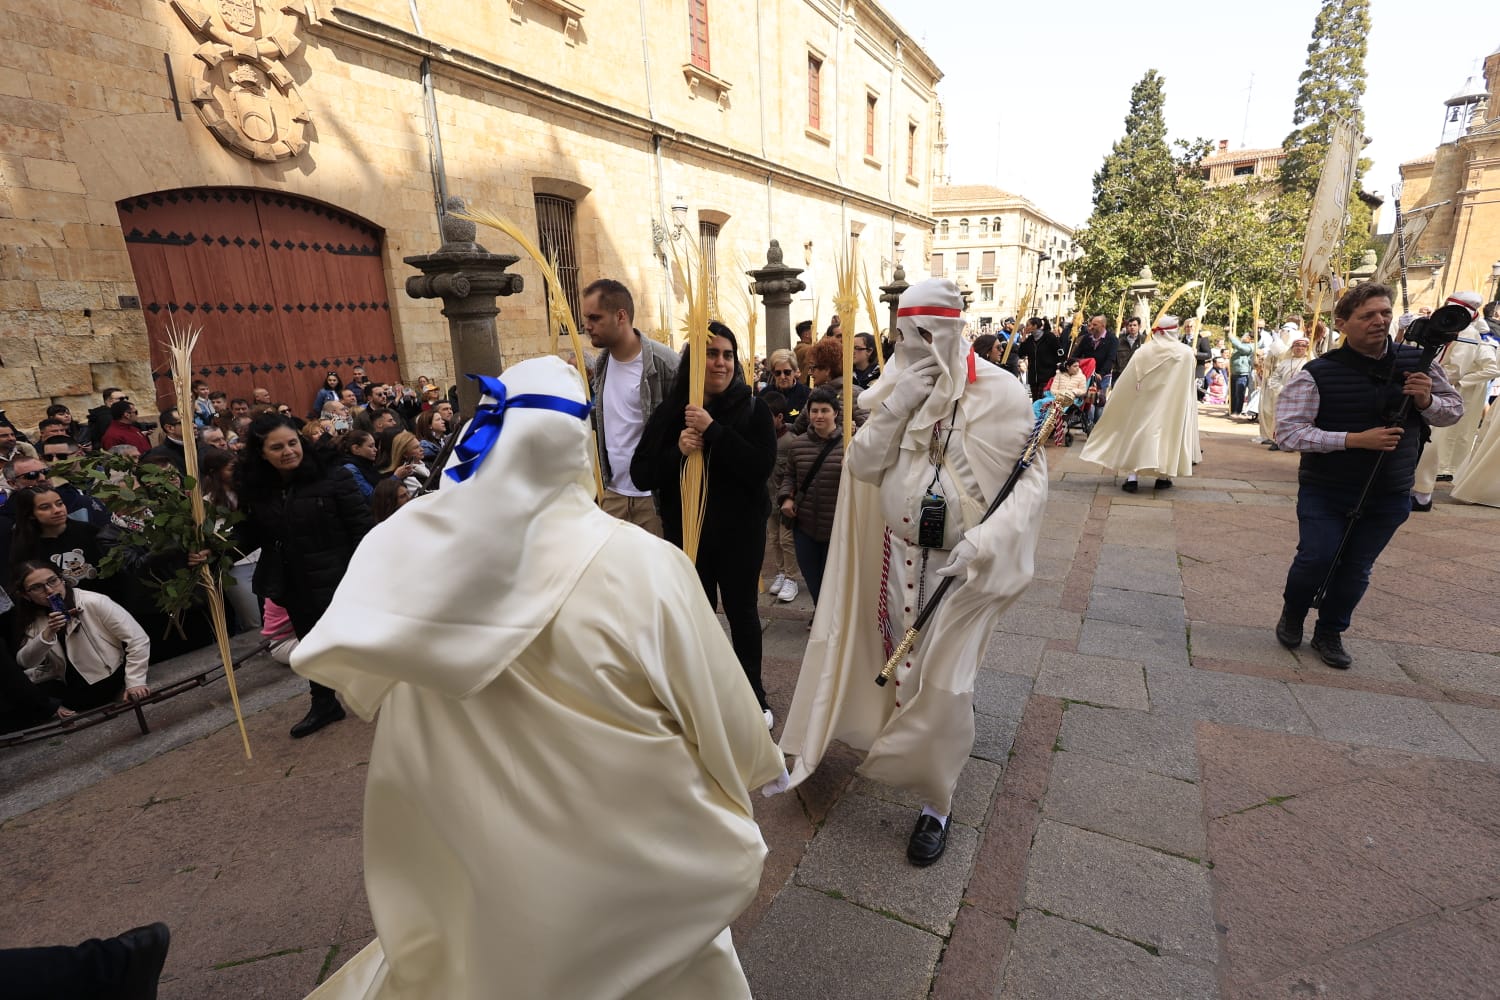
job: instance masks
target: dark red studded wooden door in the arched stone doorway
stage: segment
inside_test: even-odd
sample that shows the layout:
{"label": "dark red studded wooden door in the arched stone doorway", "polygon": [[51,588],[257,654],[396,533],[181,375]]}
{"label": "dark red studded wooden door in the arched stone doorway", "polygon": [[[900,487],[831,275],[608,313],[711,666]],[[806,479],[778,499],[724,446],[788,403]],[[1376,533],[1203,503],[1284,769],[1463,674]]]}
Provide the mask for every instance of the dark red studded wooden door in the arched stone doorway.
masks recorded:
{"label": "dark red studded wooden door in the arched stone doorway", "polygon": [[328,205],[248,187],[190,187],[118,202],[152,343],[160,406],[171,406],[168,319],[200,325],[194,378],[234,397],[268,388],[298,417],[328,372],[363,366],[396,381],[382,232]]}

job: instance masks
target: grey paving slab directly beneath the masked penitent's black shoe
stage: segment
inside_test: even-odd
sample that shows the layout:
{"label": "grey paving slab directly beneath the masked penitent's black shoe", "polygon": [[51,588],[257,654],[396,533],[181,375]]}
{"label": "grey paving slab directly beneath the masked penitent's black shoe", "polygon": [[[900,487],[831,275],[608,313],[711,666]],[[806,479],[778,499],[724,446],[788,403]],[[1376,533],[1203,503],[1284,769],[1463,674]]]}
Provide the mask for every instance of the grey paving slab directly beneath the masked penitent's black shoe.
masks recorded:
{"label": "grey paving slab directly beneath the masked penitent's black shoe", "polygon": [[794,876],[796,885],[843,898],[946,936],[958,915],[963,888],[974,873],[980,834],[954,823],[948,850],[928,868],[906,861],[916,810],[844,795],[807,849]]}

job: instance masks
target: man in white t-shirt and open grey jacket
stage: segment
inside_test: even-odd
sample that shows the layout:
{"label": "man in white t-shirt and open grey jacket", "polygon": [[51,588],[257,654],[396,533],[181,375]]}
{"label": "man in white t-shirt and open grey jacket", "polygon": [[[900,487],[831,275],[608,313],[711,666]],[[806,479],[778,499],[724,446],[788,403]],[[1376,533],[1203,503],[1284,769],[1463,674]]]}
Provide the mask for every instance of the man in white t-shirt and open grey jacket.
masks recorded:
{"label": "man in white t-shirt and open grey jacket", "polygon": [[662,535],[662,517],[648,490],[630,478],[640,430],[676,376],[676,354],[634,328],[630,289],[602,277],[584,289],[584,333],[600,349],[590,376],[604,513]]}

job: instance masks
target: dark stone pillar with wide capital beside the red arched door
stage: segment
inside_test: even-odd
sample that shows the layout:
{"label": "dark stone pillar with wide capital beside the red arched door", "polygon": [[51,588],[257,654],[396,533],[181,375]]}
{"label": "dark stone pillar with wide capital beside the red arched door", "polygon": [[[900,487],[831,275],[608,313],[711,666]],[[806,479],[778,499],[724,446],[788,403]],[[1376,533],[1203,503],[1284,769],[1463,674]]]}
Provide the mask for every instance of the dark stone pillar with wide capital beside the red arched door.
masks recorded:
{"label": "dark stone pillar with wide capital beside the red arched door", "polygon": [[453,345],[459,409],[472,417],[480,388],[465,375],[500,375],[500,331],[495,328],[500,306],[495,298],[520,291],[520,274],[506,273],[520,258],[490,253],[474,241],[474,223],[452,214],[464,211],[462,198],[448,198],[442,207],[442,246],[435,253],[405,258],[406,264],[422,271],[406,279],[406,294],[442,300]]}

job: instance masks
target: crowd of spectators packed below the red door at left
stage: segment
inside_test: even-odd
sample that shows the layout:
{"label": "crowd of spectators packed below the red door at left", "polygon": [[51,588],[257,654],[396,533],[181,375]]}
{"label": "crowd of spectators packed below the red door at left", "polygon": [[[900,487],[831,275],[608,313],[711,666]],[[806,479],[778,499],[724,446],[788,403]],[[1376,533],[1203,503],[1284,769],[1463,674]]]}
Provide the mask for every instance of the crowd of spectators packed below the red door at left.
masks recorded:
{"label": "crowd of spectators packed below the red door at left", "polygon": [[[190,411],[154,421],[117,387],[84,418],[48,406],[34,430],[0,411],[0,732],[148,697],[150,664],[213,642],[201,601],[170,616],[147,585],[212,556],[146,538],[142,484],[182,490],[189,447],[208,528],[234,544],[231,630],[285,622],[291,639],[327,607],[369,526],[429,487],[456,423],[429,379],[378,384],[363,367],[346,384],[328,372],[297,402],[194,382]],[[314,685],[292,735],[342,715]]]}

